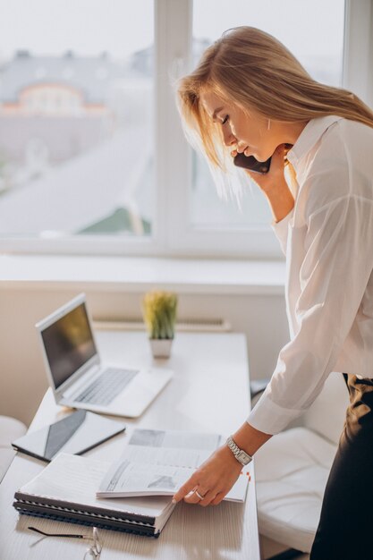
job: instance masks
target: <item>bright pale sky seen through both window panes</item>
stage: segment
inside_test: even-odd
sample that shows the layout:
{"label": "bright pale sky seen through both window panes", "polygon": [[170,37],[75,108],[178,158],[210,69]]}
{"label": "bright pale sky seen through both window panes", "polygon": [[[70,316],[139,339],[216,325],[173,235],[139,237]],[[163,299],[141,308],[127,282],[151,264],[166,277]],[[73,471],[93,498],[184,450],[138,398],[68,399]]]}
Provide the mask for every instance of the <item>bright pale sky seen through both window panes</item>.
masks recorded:
{"label": "bright pale sky seen through both window panes", "polygon": [[[179,0],[174,0],[179,2]],[[195,0],[193,32],[215,39],[237,25],[253,25],[282,40],[295,55],[340,51],[343,0]],[[16,49],[37,55],[107,51],[116,58],[154,38],[153,0],[0,0],[0,58]],[[294,26],[292,21],[301,21]],[[316,31],[315,31],[316,30]]]}

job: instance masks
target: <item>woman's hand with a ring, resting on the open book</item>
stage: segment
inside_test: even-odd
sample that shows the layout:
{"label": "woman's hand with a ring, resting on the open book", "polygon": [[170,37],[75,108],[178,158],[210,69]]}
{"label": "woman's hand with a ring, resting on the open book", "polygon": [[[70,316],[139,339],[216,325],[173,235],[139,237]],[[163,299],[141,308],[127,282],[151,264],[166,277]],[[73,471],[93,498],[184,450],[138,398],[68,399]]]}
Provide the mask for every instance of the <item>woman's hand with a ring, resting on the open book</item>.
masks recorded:
{"label": "woman's hand with a ring, resting on the open book", "polygon": [[[179,502],[184,498],[190,504],[220,504],[241,471],[242,464],[235,459],[229,447],[223,445],[179,488],[174,500]],[[199,496],[203,496],[203,499]]]}

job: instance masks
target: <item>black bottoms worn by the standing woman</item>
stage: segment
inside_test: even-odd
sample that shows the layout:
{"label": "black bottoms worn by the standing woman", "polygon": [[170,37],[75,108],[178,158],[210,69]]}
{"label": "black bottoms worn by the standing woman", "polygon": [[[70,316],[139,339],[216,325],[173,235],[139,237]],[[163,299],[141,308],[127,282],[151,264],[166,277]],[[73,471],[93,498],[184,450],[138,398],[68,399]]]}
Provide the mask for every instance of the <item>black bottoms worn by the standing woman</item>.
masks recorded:
{"label": "black bottoms worn by the standing woman", "polygon": [[373,559],[373,379],[343,377],[350,405],[310,560]]}

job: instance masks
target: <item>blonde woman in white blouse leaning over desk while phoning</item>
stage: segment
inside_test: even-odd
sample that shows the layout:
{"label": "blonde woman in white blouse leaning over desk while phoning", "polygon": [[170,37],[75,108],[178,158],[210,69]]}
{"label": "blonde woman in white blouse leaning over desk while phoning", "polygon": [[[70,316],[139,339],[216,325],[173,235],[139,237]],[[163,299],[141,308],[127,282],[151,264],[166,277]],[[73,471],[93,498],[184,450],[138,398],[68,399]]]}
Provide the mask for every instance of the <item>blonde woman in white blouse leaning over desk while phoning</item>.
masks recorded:
{"label": "blonde woman in white blouse leaning over desk while phoning", "polygon": [[249,27],[209,47],[178,94],[183,123],[216,169],[227,173],[238,152],[272,157],[267,174],[248,173],[286,255],[291,341],[249,418],[174,499],[219,504],[242,463],[309,407],[331,371],[345,372],[351,405],[310,557],[371,558],[373,113]]}

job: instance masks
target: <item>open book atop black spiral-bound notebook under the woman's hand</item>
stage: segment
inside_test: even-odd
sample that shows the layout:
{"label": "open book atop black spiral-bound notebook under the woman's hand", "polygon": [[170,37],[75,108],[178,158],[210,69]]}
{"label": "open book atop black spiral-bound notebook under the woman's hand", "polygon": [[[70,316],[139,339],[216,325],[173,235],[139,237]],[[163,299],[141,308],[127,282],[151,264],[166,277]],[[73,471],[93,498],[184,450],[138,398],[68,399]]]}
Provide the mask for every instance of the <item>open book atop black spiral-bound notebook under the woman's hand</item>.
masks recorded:
{"label": "open book atop black spiral-bound notebook under the woman's hand", "polygon": [[[157,537],[174,509],[172,496],[218,445],[216,434],[136,429],[110,464],[59,454],[14,495],[20,513]],[[243,470],[225,500],[244,502]]]}

